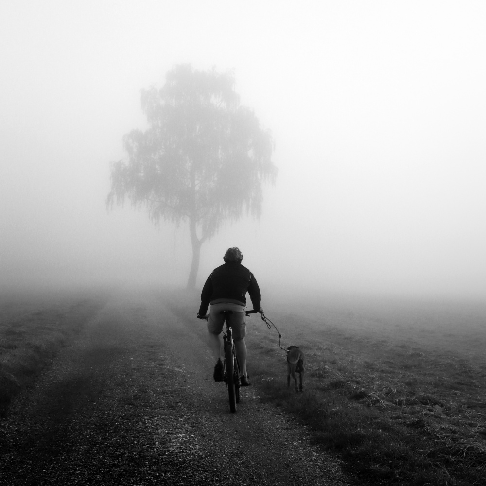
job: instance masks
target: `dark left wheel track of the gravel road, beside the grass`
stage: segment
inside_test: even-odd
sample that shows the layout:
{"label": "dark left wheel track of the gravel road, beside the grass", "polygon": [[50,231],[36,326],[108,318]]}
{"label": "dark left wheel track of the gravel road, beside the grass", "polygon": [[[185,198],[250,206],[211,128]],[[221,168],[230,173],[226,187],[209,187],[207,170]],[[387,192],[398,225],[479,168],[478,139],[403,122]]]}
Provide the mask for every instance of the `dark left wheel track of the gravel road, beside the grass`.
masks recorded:
{"label": "dark left wheel track of the gravel road, beside the grass", "polygon": [[[85,438],[82,427],[77,435],[77,422],[84,422],[85,431],[96,423],[95,404],[109,385],[111,370],[127,351],[119,339],[121,316],[113,308],[88,315],[78,340],[61,350],[35,386],[17,397],[2,421],[2,485],[52,484],[52,473],[63,477],[62,470],[76,463],[69,454]],[[118,339],[113,338],[116,334]]]}

